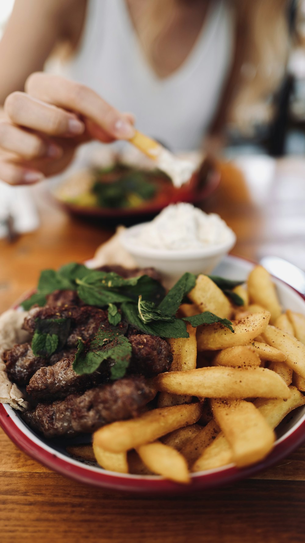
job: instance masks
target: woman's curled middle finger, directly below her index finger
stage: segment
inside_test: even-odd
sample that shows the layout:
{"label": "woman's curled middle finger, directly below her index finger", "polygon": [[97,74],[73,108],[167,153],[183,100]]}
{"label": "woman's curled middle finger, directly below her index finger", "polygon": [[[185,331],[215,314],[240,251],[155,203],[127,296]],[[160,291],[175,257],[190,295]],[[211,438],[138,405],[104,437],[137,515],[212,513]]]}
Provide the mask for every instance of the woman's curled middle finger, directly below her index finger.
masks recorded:
{"label": "woman's curled middle finger, directly below her index finger", "polygon": [[49,136],[78,136],[85,131],[85,124],[73,113],[46,104],[24,92],[13,92],[4,103],[4,110],[11,121]]}

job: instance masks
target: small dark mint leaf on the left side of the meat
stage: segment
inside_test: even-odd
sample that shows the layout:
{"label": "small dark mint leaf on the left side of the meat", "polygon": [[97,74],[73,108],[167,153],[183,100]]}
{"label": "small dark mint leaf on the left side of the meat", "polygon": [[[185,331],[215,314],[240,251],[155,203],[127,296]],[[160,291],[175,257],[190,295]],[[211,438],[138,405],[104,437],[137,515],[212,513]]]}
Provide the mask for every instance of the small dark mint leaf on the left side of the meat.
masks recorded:
{"label": "small dark mint leaf on the left side of the meat", "polygon": [[31,349],[35,356],[50,356],[63,348],[70,331],[70,319],[36,319]]}

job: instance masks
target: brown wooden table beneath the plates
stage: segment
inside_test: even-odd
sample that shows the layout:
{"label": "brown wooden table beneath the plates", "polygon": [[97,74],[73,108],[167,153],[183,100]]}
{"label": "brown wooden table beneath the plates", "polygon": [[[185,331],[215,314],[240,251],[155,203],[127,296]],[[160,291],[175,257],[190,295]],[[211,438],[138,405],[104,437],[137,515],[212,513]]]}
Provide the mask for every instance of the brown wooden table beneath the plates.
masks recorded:
{"label": "brown wooden table beneath the plates", "polygon": [[[234,254],[274,254],[305,269],[305,161],[279,161],[275,175],[272,168],[256,161],[245,181],[235,167],[220,166],[220,187],[203,209],[235,230]],[[86,260],[112,233],[67,217],[40,188],[35,193],[41,228],[14,244],[0,241],[0,312],[36,285],[42,268]],[[255,479],[186,498],[83,486],[25,456],[2,431],[0,451],[1,543],[305,541],[305,446]]]}

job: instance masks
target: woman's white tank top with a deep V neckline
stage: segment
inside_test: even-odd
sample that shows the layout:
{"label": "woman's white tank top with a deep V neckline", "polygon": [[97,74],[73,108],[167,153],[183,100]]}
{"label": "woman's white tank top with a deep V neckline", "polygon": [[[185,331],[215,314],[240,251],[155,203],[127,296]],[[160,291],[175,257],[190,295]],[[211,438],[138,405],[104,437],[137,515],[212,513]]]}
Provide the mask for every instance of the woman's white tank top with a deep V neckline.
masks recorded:
{"label": "woman's white tank top with a deep V neckline", "polygon": [[120,111],[134,113],[139,130],[174,151],[198,149],[216,113],[233,49],[233,17],[213,0],[189,56],[159,78],[142,53],[125,0],[89,0],[77,54],[60,69]]}

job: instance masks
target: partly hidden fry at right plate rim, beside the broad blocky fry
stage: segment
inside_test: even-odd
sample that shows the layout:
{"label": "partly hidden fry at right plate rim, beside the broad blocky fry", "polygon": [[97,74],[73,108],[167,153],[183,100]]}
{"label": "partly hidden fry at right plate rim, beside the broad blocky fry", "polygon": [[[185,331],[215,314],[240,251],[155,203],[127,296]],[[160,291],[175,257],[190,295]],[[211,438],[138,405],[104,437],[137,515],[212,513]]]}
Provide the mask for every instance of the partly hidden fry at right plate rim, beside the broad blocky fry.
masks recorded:
{"label": "partly hidden fry at right plate rim, beside the broad blocky fry", "polygon": [[254,402],[254,405],[267,420],[271,428],[276,428],[290,411],[305,405],[305,396],[296,387],[291,385],[289,390],[291,395],[286,401],[278,398],[272,400],[259,398]]}

